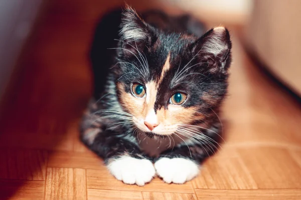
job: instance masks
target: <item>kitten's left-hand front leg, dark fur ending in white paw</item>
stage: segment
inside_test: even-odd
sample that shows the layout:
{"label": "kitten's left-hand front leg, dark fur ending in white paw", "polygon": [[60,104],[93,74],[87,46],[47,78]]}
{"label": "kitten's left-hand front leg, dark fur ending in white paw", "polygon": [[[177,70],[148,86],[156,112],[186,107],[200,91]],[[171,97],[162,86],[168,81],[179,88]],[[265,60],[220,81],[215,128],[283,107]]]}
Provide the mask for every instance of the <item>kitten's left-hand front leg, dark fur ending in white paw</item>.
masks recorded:
{"label": "kitten's left-hand front leg, dark fur ending in white paw", "polygon": [[82,128],[81,139],[124,183],[144,185],[156,173],[153,162],[140,151],[132,135],[119,135],[93,123],[89,128]]}

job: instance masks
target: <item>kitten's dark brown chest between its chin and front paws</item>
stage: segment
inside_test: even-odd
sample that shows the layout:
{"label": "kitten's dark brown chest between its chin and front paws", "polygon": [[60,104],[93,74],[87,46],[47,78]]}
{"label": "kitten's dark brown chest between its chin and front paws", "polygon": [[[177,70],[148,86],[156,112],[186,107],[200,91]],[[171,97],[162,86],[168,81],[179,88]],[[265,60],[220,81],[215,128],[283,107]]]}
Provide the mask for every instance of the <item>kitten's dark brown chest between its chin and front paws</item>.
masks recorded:
{"label": "kitten's dark brown chest between its chin and front paws", "polygon": [[182,139],[174,135],[167,138],[150,138],[141,132],[137,134],[137,137],[140,149],[153,157],[157,157],[163,151],[176,147],[183,142]]}

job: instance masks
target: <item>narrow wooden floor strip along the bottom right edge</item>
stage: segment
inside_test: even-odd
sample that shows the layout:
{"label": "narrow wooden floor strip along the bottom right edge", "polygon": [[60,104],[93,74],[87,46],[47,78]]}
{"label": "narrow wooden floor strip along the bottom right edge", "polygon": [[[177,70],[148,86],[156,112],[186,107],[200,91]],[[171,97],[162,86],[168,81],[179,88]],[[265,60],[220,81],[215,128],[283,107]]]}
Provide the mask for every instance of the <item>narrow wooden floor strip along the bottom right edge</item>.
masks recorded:
{"label": "narrow wooden floor strip along the bottom right edge", "polygon": [[301,189],[196,189],[198,199],[300,199]]}

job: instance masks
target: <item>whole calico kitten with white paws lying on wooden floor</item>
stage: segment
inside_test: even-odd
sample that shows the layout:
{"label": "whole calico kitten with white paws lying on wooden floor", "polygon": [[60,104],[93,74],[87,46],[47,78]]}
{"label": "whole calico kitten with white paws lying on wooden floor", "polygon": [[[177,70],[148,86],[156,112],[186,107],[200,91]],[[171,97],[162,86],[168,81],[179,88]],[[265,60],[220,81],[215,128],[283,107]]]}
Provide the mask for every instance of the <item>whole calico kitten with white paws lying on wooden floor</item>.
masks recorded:
{"label": "whole calico kitten with white paws lying on wooden floor", "polygon": [[127,6],[96,30],[81,139],[124,183],[144,185],[156,173],[184,183],[218,147],[230,35],[225,27],[202,35],[187,16],[141,16]]}

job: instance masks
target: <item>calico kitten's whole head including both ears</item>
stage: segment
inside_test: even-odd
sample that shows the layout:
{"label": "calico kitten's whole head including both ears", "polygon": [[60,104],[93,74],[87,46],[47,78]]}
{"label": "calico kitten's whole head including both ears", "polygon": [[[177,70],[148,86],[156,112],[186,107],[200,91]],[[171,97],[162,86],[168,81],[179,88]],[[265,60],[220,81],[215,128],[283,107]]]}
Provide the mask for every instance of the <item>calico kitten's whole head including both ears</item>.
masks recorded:
{"label": "calico kitten's whole head including both ears", "polygon": [[127,7],[120,26],[118,100],[145,132],[173,134],[206,121],[226,95],[231,41],[226,28],[202,37],[164,32]]}

